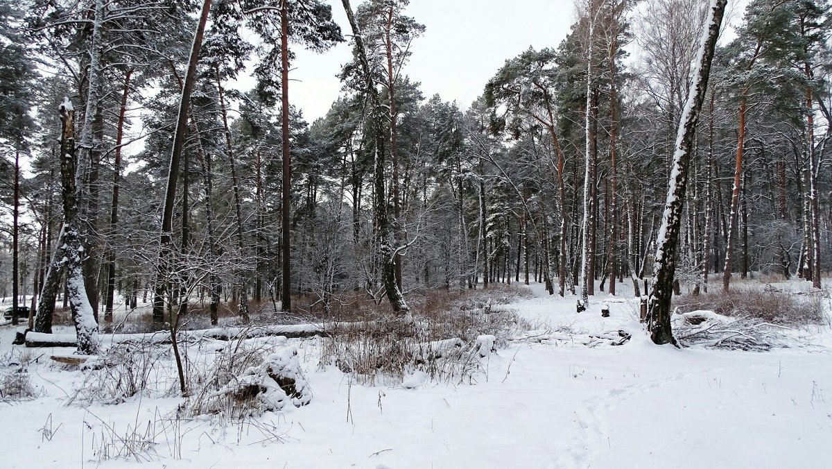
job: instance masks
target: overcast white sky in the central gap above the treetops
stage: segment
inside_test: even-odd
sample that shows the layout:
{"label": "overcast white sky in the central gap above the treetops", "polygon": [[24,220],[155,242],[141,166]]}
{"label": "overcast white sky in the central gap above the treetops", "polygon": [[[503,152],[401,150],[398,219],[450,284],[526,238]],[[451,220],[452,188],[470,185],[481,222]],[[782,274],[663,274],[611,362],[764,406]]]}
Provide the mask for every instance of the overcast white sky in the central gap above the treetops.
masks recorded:
{"label": "overcast white sky in the central gap above the treetops", "polygon": [[[327,0],[344,37],[349,22],[340,0]],[[353,0],[356,7],[360,0]],[[506,59],[529,46],[557,47],[569,32],[573,0],[411,0],[407,10],[427,28],[414,41],[405,73],[422,83],[425,97],[439,93],[467,108]],[[295,47],[290,100],[307,122],[322,117],[339,95],[335,75],[348,62],[344,42],[322,54]]]}

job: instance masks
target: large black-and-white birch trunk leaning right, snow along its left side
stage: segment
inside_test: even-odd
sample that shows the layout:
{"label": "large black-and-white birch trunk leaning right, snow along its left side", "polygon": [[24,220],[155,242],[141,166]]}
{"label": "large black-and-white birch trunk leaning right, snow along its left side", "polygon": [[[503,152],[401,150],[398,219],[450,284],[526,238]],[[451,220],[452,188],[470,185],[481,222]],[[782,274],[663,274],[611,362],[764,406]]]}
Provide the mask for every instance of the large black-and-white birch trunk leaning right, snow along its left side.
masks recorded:
{"label": "large black-and-white birch trunk leaning right, snow along its left side", "polygon": [[656,344],[673,343],[676,339],[671,331],[671,297],[673,295],[673,277],[676,273],[676,250],[681,230],[681,212],[685,201],[688,168],[695,144],[696,122],[702,102],[705,100],[708,77],[711,75],[711,61],[714,57],[716,40],[720,35],[722,17],[725,14],[727,0],[712,0],[708,13],[707,29],[696,64],[695,87],[687,98],[685,112],[682,113],[676,133],[676,152],[673,156],[671,177],[667,189],[665,211],[661,217],[661,227],[656,239],[656,262],[653,267],[650,297],[648,299],[647,327],[651,339]]}

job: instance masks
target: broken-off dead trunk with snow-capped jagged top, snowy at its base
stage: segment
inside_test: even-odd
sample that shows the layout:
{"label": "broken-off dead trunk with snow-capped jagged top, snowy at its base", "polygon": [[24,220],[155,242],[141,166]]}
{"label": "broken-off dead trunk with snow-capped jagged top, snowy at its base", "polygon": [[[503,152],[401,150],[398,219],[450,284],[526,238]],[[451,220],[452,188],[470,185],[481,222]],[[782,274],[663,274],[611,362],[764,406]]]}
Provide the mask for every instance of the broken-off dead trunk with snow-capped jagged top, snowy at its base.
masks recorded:
{"label": "broken-off dead trunk with snow-capped jagged top, snowy at its base", "polygon": [[75,111],[68,98],[59,109],[61,113],[61,188],[63,196],[63,242],[66,244],[67,290],[75,323],[78,353],[90,355],[98,351],[98,325],[87,298],[82,269],[83,247],[81,220],[78,217],[77,159],[75,156]]}

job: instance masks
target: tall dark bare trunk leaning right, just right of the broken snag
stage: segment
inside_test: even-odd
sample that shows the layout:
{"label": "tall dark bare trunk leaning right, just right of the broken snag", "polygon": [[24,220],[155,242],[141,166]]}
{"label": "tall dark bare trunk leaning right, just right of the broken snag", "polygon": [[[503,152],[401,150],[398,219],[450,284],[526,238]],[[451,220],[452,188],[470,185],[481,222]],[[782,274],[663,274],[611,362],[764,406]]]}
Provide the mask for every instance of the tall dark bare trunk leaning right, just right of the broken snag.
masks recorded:
{"label": "tall dark bare trunk leaning right, just right of the broken snag", "polygon": [[171,166],[167,172],[167,190],[165,201],[162,206],[162,222],[160,236],[159,263],[156,266],[156,295],[153,299],[153,322],[156,325],[165,322],[164,295],[166,285],[171,277],[171,236],[173,233],[173,207],[176,203],[176,181],[179,178],[180,158],[182,147],[185,142],[185,134],[188,127],[188,107],[191,103],[191,91],[196,79],[196,65],[199,62],[200,48],[202,47],[202,36],[205,33],[208,13],[210,12],[211,0],[205,0],[202,4],[200,21],[197,23],[194,33],[194,42],[191,46],[191,57],[188,61],[188,72],[185,82],[182,84],[182,94],[179,100],[179,113],[176,117],[176,130],[173,134],[173,148],[171,149]]}

